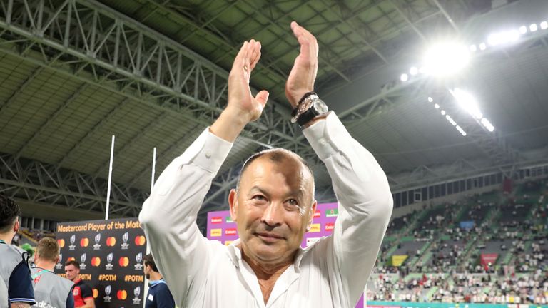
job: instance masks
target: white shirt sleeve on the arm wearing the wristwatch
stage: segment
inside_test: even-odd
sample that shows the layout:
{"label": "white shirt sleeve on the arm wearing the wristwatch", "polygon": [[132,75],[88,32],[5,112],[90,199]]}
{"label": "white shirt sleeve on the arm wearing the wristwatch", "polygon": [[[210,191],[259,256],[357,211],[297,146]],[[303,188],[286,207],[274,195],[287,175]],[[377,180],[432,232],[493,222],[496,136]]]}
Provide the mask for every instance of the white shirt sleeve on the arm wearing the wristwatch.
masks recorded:
{"label": "white shirt sleeve on the arm wearing the wristwatch", "polygon": [[303,130],[325,163],[339,203],[328,268],[342,307],[354,307],[375,265],[390,216],[392,193],[382,168],[335,113]]}

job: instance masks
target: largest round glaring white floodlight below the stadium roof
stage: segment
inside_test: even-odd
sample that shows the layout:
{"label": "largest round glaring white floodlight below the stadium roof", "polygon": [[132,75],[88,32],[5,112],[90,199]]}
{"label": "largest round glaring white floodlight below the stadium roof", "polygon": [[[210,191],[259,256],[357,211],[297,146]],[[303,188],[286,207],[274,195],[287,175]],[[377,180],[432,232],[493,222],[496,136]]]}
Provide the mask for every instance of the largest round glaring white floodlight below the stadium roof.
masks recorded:
{"label": "largest round glaring white floodlight below the stadium roof", "polygon": [[470,53],[465,46],[457,43],[439,43],[428,49],[424,63],[428,73],[447,76],[464,68],[469,58]]}

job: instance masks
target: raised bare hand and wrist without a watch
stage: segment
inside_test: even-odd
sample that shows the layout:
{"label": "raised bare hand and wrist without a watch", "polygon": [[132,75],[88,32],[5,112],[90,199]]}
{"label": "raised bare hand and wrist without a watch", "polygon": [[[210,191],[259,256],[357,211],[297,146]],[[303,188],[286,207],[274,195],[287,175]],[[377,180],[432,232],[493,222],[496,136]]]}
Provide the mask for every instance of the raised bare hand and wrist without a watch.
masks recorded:
{"label": "raised bare hand and wrist without a watch", "polygon": [[253,39],[243,43],[228,75],[228,105],[211,125],[211,133],[234,141],[245,125],[257,120],[263,113],[268,101],[268,91],[260,91],[253,97],[249,88],[251,72],[259,59],[260,43]]}

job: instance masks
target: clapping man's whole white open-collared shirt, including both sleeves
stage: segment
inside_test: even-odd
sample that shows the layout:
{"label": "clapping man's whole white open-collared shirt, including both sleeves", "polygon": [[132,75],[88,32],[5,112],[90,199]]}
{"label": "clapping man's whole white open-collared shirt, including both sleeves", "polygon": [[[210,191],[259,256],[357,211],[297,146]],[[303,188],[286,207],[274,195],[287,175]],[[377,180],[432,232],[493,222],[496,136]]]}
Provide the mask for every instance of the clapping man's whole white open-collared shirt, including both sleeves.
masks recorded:
{"label": "clapping man's whole white open-collared shirt, including both sleeves", "polygon": [[196,216],[232,143],[206,129],[163,171],[139,220],[178,307],[355,307],[392,213],[392,195],[375,158],[335,116],[303,130],[328,168],[338,197],[333,235],[300,249],[265,304],[258,279],[229,246],[203,237]]}

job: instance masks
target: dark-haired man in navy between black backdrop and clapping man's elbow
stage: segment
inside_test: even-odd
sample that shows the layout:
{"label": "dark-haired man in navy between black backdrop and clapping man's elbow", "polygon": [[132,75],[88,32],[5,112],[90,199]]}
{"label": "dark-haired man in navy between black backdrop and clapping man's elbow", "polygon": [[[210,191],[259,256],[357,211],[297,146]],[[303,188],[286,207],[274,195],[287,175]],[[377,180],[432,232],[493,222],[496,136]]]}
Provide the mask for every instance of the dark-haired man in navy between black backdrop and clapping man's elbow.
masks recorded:
{"label": "dark-haired man in navy between black backdrop and clapping man's elbow", "polygon": [[158,272],[158,267],[154,263],[151,254],[146,255],[143,272],[145,272],[148,282],[148,294],[146,295],[145,308],[173,308],[175,301],[173,295],[169,291],[166,281],[163,280],[162,274]]}

